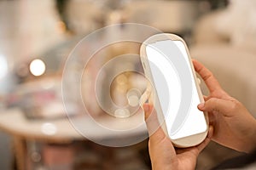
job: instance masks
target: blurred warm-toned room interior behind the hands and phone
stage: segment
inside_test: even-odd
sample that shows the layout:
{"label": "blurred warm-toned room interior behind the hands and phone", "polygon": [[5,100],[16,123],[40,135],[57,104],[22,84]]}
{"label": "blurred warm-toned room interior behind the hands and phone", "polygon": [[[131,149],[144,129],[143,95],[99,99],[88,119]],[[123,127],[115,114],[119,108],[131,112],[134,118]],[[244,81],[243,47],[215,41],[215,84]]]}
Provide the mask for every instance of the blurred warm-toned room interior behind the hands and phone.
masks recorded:
{"label": "blurred warm-toned room interior behind the hands and phone", "polygon": [[[157,31],[256,117],[255,20],[254,0],[0,0],[0,169],[151,169],[139,49]],[[212,141],[196,169],[239,155]]]}

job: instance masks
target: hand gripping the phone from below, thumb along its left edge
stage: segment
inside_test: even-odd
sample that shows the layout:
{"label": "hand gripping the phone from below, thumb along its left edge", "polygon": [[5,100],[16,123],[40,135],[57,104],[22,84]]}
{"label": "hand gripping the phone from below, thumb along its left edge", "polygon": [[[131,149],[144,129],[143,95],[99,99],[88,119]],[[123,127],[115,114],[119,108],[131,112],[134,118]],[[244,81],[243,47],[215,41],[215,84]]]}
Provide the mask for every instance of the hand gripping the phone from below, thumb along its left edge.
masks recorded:
{"label": "hand gripping the phone from below, thumb along its left edge", "polygon": [[210,142],[212,127],[209,128],[207,139],[201,144],[186,149],[175,149],[160,127],[153,105],[144,104],[143,109],[149,133],[148,150],[152,169],[195,169],[197,156]]}

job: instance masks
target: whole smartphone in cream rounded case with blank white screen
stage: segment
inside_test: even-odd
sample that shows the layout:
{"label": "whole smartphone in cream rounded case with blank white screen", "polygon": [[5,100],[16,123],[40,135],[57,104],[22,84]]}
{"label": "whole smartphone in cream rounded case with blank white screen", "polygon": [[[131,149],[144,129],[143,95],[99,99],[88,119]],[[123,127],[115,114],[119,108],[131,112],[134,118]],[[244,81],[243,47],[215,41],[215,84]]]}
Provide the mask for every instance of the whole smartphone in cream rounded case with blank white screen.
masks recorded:
{"label": "whole smartphone in cream rounded case with blank white screen", "polygon": [[154,109],[161,127],[177,147],[200,144],[208,132],[207,113],[189,50],[181,37],[161,33],[141,46],[143,70],[154,93]]}

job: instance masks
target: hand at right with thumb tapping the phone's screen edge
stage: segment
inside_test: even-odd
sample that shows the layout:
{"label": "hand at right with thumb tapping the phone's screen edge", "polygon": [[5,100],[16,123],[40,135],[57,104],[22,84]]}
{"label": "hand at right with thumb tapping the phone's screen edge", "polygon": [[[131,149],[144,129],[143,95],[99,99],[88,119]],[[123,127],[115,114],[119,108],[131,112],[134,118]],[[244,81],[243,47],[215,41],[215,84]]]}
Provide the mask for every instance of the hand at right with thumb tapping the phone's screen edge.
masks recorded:
{"label": "hand at right with thumb tapping the phone's screen edge", "polygon": [[211,71],[196,60],[193,64],[210,91],[206,102],[198,105],[198,109],[208,112],[213,127],[212,140],[234,150],[253,150],[256,146],[255,118],[239,101],[224,92]]}

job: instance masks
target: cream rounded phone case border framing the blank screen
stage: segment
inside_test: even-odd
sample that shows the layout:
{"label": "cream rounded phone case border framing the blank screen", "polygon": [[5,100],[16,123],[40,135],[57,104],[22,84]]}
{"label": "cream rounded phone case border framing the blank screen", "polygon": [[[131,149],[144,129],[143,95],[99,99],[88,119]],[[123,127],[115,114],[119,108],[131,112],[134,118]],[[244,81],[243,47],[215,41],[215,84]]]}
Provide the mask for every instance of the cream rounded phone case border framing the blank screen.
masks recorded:
{"label": "cream rounded phone case border framing the blank screen", "polygon": [[[182,37],[178,37],[177,35],[171,34],[171,33],[160,33],[160,34],[156,34],[152,37],[148,37],[148,39],[143,42],[143,44],[140,48],[140,56],[141,56],[140,59],[141,59],[141,62],[142,62],[142,65],[143,65],[143,70],[145,72],[146,77],[151,82],[153,82],[153,76],[152,76],[152,73],[151,73],[151,70],[150,70],[150,67],[149,67],[148,56],[147,56],[147,53],[146,53],[146,46],[150,43],[165,41],[165,40],[183,42],[183,45],[186,49],[186,53],[188,54],[189,65],[190,65],[190,68],[192,70],[192,74],[193,74],[193,77],[194,77],[194,82],[195,82],[195,87],[196,87],[197,94],[199,96],[200,101],[204,102],[203,95],[201,94],[201,88],[199,86],[199,83],[197,81],[197,77],[195,75],[195,69],[194,69],[192,60],[191,60],[190,55],[189,55],[189,49],[186,45],[186,42],[184,42]],[[154,92],[155,92],[155,89],[152,89],[152,90],[154,90]],[[157,112],[158,119],[159,119],[160,122],[163,122],[163,123],[161,123],[161,127],[164,130],[164,132],[166,133],[166,135],[169,137],[169,135],[167,133],[167,130],[166,130],[166,122],[165,122],[162,110],[160,108],[160,100],[158,99],[157,95],[154,96],[154,99],[155,99],[154,100],[155,101],[154,108]],[[204,112],[204,117],[205,117],[205,120],[207,122],[207,130],[205,132],[193,134],[193,135],[183,137],[183,138],[180,138],[180,139],[171,139],[169,137],[172,140],[172,144],[174,144],[177,147],[182,147],[182,148],[183,147],[190,147],[190,146],[195,146],[197,144],[200,144],[204,139],[206,139],[207,132],[208,132],[208,127],[209,127],[207,112]]]}

